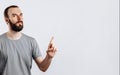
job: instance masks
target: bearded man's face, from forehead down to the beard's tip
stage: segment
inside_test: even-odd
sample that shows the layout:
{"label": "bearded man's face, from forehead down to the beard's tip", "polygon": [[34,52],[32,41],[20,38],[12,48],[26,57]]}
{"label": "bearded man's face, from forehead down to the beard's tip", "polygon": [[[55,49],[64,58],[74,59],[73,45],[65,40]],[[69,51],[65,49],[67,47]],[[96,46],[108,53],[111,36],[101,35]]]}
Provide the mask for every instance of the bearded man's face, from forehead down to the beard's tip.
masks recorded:
{"label": "bearded man's face, from forehead down to the beard's tip", "polygon": [[23,14],[19,8],[10,8],[8,10],[8,23],[10,29],[15,32],[23,29]]}

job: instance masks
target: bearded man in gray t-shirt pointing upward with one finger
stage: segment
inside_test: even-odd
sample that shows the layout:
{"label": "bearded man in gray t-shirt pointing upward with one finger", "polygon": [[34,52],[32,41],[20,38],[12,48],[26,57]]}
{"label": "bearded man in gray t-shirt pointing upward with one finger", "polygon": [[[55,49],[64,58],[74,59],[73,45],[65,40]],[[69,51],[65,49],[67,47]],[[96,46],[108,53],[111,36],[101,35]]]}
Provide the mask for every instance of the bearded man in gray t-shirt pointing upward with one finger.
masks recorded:
{"label": "bearded man in gray t-shirt pointing upward with one finger", "polygon": [[31,75],[32,58],[45,72],[56,53],[53,37],[43,59],[36,40],[21,32],[23,13],[20,8],[16,5],[7,7],[4,17],[9,30],[0,36],[0,75]]}

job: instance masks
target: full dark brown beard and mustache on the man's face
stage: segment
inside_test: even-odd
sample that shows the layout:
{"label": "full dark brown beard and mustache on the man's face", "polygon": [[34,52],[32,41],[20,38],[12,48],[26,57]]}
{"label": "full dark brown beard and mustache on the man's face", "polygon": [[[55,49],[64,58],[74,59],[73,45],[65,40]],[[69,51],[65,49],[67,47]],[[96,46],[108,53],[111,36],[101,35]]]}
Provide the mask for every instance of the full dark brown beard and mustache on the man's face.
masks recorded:
{"label": "full dark brown beard and mustache on the man's face", "polygon": [[[21,24],[17,25],[17,23],[21,23]],[[17,21],[16,23],[12,23],[9,20],[9,24],[10,24],[11,29],[15,32],[20,32],[23,29],[23,21]]]}

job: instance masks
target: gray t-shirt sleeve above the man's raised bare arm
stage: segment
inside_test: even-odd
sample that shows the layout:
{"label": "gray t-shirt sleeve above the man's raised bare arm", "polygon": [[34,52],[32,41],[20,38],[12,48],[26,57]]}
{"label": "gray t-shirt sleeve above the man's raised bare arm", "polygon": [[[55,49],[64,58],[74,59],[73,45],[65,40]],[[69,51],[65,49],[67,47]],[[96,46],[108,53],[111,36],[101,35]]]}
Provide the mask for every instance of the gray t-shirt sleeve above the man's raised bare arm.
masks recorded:
{"label": "gray t-shirt sleeve above the man's raised bare arm", "polygon": [[32,57],[33,59],[35,59],[36,57],[42,56],[39,46],[37,44],[37,41],[35,39],[33,39],[32,41]]}

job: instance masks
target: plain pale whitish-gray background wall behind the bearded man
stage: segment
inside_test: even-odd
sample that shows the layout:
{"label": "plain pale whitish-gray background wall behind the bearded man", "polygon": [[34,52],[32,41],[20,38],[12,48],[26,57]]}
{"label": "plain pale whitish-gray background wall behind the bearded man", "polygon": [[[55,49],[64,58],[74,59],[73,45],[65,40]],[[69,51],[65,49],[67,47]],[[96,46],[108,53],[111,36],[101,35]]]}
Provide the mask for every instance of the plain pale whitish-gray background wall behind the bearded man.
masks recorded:
{"label": "plain pale whitish-gray background wall behind the bearded man", "polygon": [[43,57],[52,36],[58,49],[45,73],[33,61],[32,75],[119,75],[119,0],[0,0],[0,34],[13,4]]}

